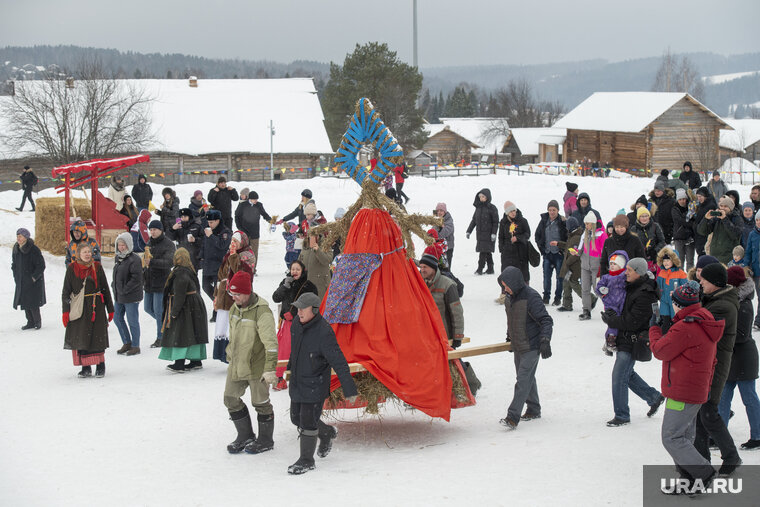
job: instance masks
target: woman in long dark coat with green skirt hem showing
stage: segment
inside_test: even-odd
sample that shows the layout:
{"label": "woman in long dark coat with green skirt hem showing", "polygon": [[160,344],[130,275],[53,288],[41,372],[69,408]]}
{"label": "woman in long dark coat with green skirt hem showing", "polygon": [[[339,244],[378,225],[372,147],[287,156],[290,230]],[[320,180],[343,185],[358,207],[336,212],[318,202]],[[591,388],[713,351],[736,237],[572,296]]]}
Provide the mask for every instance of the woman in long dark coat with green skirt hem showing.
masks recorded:
{"label": "woman in long dark coat with green skirt hem showing", "polygon": [[208,343],[206,305],[190,252],[184,248],[174,252],[174,268],[164,287],[162,332],[158,358],[174,361],[168,370],[184,373],[203,368]]}

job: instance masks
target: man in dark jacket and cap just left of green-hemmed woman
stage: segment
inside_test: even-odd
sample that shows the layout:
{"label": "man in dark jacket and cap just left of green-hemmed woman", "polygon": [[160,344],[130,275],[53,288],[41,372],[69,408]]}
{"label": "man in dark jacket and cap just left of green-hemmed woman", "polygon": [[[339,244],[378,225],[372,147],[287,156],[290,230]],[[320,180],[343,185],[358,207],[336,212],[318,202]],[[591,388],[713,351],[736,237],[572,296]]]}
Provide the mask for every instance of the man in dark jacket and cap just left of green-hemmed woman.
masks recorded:
{"label": "man in dark jacket and cap just left of green-hemmed woman", "polygon": [[164,285],[174,265],[174,242],[164,234],[164,227],[158,220],[148,224],[150,240],[145,247],[143,268],[145,274],[145,313],[156,319],[156,341],[151,348],[161,346],[161,319],[164,315]]}

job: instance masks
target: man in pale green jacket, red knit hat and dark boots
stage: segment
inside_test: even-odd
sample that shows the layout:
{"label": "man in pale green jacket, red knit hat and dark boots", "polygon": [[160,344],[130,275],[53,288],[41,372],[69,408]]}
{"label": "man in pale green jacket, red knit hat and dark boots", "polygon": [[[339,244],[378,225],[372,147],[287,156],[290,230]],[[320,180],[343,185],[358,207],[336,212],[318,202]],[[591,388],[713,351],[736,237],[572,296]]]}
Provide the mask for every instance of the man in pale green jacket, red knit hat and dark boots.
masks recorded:
{"label": "man in pale green jacket, red knit hat and dark boots", "polygon": [[[227,346],[227,383],[224,405],[237,429],[237,438],[227,446],[230,454],[243,449],[259,454],[274,447],[274,410],[269,386],[277,383],[277,334],[269,303],[253,292],[251,275],[238,271],[227,283],[235,302],[230,309],[230,343]],[[259,436],[253,432],[251,416],[241,399],[251,388],[251,405],[256,409]]]}

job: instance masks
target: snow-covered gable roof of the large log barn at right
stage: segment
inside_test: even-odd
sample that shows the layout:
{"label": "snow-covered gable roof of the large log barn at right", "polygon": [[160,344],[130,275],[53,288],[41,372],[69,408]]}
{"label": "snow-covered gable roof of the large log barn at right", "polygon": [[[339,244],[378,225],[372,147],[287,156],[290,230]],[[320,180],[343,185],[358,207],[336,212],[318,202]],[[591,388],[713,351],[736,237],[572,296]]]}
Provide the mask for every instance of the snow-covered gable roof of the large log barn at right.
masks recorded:
{"label": "snow-covered gable roof of the large log barn at right", "polygon": [[557,120],[554,127],[605,132],[641,132],[684,97],[723,122],[718,115],[687,93],[596,92]]}

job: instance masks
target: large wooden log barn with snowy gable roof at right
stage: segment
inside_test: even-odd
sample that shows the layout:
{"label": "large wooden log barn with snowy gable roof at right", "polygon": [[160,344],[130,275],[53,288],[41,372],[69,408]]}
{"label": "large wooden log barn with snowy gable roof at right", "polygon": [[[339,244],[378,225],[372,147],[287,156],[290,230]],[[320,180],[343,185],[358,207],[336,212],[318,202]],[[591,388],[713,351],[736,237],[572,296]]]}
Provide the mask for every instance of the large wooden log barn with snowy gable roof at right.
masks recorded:
{"label": "large wooden log barn with snowy gable roof at right", "polygon": [[554,124],[567,129],[565,161],[588,158],[644,174],[719,166],[720,129],[731,129],[687,93],[597,92]]}

